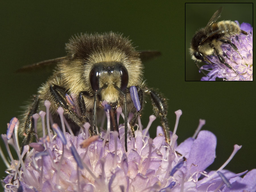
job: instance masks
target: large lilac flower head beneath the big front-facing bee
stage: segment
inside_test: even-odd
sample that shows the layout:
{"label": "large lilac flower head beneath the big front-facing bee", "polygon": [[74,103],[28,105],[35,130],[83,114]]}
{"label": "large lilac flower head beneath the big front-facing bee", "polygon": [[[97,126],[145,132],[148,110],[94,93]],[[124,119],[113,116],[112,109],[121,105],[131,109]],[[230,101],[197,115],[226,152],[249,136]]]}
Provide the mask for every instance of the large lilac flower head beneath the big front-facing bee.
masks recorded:
{"label": "large lilac flower head beneath the big front-facing bee", "polygon": [[[148,129],[156,119],[151,115],[148,126],[135,131],[135,138],[129,133],[128,150],[125,152],[124,125],[119,124],[119,139],[117,132],[110,131],[106,103],[104,108],[107,130],[102,130],[100,136],[88,137],[88,123],[78,135],[67,133],[64,123],[62,131],[53,123],[52,131],[48,125],[42,126],[50,130],[48,135],[39,138],[36,143],[30,143],[30,146],[24,146],[22,154],[17,145],[18,119],[12,119],[8,125],[8,136],[2,134],[11,159],[11,163],[4,159],[8,174],[3,179],[5,191],[256,190],[256,169],[239,174],[224,170],[241,146],[234,146],[230,158],[217,171],[205,171],[214,162],[216,149],[216,136],[210,131],[201,131],[205,120],[199,121],[193,137],[178,145],[176,130],[181,110],[175,112],[176,124],[174,132],[170,132],[170,144],[166,143],[160,126],[156,129],[157,136],[154,139],[149,137]],[[45,113],[40,113],[43,119]],[[58,113],[64,122],[61,108]],[[124,116],[121,110],[117,110],[117,113],[117,117]],[[38,118],[38,115],[35,116]],[[8,143],[14,145],[19,160],[13,159]],[[246,175],[240,177],[243,174]]]}

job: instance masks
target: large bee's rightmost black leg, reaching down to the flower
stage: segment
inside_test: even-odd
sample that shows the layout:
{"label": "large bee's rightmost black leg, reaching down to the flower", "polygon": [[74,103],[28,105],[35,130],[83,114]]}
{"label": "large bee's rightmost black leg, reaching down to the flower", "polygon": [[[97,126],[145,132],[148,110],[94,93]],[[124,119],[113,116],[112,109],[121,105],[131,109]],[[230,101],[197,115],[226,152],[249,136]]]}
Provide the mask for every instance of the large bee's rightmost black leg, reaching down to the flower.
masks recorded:
{"label": "large bee's rightmost black leg, reaching down to the flower", "polygon": [[151,96],[151,102],[153,105],[153,112],[154,114],[160,115],[161,124],[164,130],[165,140],[167,143],[170,143],[170,128],[168,126],[168,119],[167,119],[167,100],[164,98],[160,93],[150,89],[147,91]]}

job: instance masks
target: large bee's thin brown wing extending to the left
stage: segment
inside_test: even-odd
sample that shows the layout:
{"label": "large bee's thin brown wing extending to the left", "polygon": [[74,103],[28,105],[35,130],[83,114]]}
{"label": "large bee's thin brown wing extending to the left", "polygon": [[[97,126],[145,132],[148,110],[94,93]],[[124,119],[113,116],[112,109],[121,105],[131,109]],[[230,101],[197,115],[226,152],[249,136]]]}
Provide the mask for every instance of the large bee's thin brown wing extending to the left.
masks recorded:
{"label": "large bee's thin brown wing extending to the left", "polygon": [[33,72],[38,69],[44,69],[44,68],[48,68],[48,67],[54,68],[59,61],[61,61],[62,59],[65,59],[65,58],[66,58],[66,56],[58,57],[55,59],[49,59],[49,60],[41,61],[38,63],[33,63],[31,65],[25,65],[25,66],[21,67],[20,69],[18,69],[16,71],[16,73]]}

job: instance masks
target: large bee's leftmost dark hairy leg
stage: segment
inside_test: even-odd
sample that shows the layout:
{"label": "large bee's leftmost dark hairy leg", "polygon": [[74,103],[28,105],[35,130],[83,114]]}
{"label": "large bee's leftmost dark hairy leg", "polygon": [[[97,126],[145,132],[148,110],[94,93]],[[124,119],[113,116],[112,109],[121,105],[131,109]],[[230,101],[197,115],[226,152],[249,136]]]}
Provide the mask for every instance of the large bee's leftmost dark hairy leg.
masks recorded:
{"label": "large bee's leftmost dark hairy leg", "polygon": [[29,111],[26,115],[26,120],[25,120],[25,123],[24,123],[25,138],[24,138],[24,140],[22,141],[22,144],[21,144],[21,151],[23,151],[23,147],[25,145],[28,145],[33,140],[33,137],[34,137],[34,119],[32,118],[32,115],[34,115],[37,112],[38,106],[39,106],[39,97],[34,96],[33,102],[29,107]]}

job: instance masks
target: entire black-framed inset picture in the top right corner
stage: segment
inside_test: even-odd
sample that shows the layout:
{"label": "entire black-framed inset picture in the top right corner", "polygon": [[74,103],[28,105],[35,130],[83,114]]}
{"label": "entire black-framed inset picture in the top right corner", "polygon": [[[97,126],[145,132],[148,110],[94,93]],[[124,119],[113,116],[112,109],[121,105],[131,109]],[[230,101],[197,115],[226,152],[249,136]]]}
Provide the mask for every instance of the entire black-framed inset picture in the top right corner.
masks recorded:
{"label": "entire black-framed inset picture in the top right corner", "polygon": [[253,80],[253,3],[185,3],[185,81]]}

